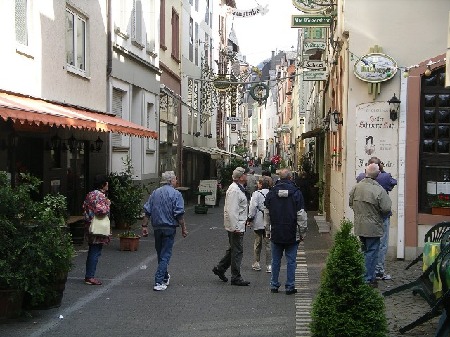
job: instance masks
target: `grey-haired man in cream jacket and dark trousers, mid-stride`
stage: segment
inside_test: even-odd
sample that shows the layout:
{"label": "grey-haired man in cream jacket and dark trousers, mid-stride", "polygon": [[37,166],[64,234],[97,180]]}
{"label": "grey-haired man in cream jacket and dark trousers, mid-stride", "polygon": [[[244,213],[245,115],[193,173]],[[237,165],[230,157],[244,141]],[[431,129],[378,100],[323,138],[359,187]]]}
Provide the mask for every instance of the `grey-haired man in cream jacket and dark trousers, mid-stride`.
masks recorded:
{"label": "grey-haired man in cream jacket and dark trousers, mid-stride", "polygon": [[244,185],[247,182],[248,169],[237,167],[233,171],[233,183],[228,187],[225,195],[224,226],[228,233],[228,249],[224,257],[213,268],[213,273],[223,281],[228,278],[225,272],[231,266],[231,285],[248,286],[241,276],[241,262],[243,256],[243,242],[245,224],[247,222],[247,196]]}

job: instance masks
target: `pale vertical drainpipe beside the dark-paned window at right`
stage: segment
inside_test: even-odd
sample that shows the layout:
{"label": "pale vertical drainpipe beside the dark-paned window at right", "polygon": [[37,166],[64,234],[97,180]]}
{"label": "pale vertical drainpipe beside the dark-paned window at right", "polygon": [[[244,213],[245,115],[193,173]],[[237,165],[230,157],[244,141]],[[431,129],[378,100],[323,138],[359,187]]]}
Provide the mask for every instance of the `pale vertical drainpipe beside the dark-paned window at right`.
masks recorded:
{"label": "pale vertical drainpipe beside the dark-paned window at right", "polygon": [[405,162],[406,162],[406,92],[408,79],[400,71],[400,116],[398,118],[398,204],[397,204],[397,259],[405,258]]}

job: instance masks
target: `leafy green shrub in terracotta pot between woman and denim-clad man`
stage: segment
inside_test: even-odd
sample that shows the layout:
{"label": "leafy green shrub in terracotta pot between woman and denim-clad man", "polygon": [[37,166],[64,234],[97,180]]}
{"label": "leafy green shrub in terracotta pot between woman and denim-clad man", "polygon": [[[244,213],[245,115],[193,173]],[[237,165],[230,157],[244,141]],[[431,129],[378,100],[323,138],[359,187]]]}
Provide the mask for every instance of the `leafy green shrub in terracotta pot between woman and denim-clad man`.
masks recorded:
{"label": "leafy green shrub in terracotta pot between woman and denim-clad man", "polygon": [[132,179],[133,166],[129,157],[124,158],[125,171],[111,172],[109,181],[109,199],[111,216],[120,225],[131,228],[142,214],[142,199],[145,188]]}

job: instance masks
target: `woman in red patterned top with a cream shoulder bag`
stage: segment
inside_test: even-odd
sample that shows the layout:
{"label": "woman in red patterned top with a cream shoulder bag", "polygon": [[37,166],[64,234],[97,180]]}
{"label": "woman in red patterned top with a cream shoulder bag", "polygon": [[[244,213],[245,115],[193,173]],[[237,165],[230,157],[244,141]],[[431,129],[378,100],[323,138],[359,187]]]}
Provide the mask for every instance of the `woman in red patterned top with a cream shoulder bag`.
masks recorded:
{"label": "woman in red patterned top with a cream shoulder bag", "polygon": [[111,241],[110,236],[94,235],[89,233],[89,226],[94,216],[109,217],[111,201],[107,198],[108,180],[105,175],[98,175],[94,179],[94,190],[86,195],[83,202],[83,215],[85,222],[85,237],[88,242],[88,254],[86,258],[86,273],[84,283],[88,285],[101,285],[102,282],[95,278],[97,264],[102,255],[103,245]]}

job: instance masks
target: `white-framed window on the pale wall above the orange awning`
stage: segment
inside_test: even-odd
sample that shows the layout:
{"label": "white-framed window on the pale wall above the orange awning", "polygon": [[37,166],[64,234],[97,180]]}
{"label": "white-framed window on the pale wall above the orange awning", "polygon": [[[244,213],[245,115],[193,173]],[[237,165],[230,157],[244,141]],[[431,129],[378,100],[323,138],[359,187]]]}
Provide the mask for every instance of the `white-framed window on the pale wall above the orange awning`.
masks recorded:
{"label": "white-framed window on the pale wall above the orange awning", "polygon": [[67,67],[79,74],[86,72],[86,18],[66,8]]}

